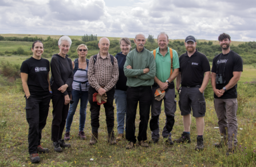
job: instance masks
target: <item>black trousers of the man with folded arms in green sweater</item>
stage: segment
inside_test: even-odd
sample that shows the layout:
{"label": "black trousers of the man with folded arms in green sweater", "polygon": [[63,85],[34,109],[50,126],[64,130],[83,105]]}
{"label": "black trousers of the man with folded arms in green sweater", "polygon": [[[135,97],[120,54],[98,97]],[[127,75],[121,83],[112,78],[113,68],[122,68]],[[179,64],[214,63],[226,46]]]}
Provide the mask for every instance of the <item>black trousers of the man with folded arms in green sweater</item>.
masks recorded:
{"label": "black trousers of the man with folded arms in green sweater", "polygon": [[139,102],[140,124],[138,141],[147,140],[148,120],[152,100],[151,86],[138,86],[127,89],[127,122],[125,137],[128,141],[136,142],[135,119]]}

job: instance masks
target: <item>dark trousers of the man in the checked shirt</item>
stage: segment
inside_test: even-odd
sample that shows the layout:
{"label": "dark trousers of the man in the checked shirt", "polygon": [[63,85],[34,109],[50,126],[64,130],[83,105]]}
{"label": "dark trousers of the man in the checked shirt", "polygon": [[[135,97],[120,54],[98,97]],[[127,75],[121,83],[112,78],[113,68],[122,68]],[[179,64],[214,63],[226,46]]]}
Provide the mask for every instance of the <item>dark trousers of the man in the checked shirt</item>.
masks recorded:
{"label": "dark trousers of the man in the checked shirt", "polygon": [[[97,105],[97,102],[93,102],[93,94],[98,93],[92,86],[90,86],[88,90],[88,100],[90,103],[90,125],[92,126],[92,133],[93,132],[98,132],[98,129],[100,127],[100,105]],[[114,101],[114,94],[115,94],[115,88],[113,87],[111,90],[106,92],[107,94],[107,102],[104,103],[104,108],[105,108],[105,114],[106,114],[106,122],[107,122],[107,128],[108,128],[108,133],[113,132],[114,128],[114,106],[113,106],[113,101]]]}

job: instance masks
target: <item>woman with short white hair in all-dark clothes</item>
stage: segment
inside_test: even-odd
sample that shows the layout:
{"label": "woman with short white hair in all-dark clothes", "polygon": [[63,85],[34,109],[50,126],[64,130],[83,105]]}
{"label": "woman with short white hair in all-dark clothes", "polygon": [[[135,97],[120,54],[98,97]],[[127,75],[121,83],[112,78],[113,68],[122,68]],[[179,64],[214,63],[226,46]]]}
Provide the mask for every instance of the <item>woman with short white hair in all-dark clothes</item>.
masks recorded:
{"label": "woman with short white hair in all-dark clothes", "polygon": [[50,62],[53,92],[52,141],[56,152],[62,152],[62,148],[70,148],[70,144],[65,144],[62,140],[62,133],[68,116],[73,83],[73,65],[71,59],[68,58],[71,44],[72,41],[68,36],[62,36],[58,40],[60,52],[54,54]]}

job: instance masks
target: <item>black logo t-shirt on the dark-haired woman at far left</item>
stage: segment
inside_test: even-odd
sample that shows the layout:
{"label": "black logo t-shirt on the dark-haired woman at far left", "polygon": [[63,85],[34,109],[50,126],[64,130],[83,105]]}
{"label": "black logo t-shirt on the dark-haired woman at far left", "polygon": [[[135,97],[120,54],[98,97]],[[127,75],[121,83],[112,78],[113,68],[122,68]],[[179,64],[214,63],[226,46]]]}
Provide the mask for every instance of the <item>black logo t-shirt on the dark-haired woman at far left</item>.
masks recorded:
{"label": "black logo t-shirt on the dark-haired woman at far left", "polygon": [[27,85],[31,95],[45,96],[49,94],[49,71],[50,62],[47,59],[30,57],[22,62],[21,73],[28,74]]}

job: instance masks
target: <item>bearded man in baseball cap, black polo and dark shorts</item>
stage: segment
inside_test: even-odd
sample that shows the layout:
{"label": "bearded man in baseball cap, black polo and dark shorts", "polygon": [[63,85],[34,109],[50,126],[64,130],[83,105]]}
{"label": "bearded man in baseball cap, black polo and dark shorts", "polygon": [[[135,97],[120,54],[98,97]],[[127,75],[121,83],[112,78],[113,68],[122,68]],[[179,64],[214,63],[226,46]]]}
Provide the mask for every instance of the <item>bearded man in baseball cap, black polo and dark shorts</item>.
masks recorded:
{"label": "bearded man in baseball cap, black polo and dark shorts", "polygon": [[[203,149],[204,115],[206,113],[206,102],[203,92],[210,79],[210,63],[206,55],[196,50],[196,39],[189,35],[185,39],[187,52],[179,58],[180,69],[176,78],[176,89],[179,93],[179,108],[183,116],[184,132],[174,142],[191,142],[191,108],[196,120],[198,133],[196,150]],[[181,86],[180,86],[181,82]]]}

